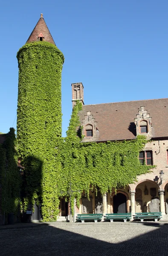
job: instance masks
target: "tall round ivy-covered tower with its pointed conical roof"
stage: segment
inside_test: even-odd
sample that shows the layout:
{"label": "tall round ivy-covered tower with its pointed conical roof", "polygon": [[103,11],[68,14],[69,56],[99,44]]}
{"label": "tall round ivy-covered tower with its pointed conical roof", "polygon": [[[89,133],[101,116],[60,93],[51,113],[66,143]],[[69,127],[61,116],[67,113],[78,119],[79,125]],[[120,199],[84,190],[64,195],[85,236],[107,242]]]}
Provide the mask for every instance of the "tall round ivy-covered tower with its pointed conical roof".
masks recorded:
{"label": "tall round ivy-covered tower with its pointed conical roof", "polygon": [[61,71],[64,55],[41,14],[26,44],[17,52],[19,67],[17,142],[24,166],[25,210],[41,202],[44,220],[55,218],[61,138]]}

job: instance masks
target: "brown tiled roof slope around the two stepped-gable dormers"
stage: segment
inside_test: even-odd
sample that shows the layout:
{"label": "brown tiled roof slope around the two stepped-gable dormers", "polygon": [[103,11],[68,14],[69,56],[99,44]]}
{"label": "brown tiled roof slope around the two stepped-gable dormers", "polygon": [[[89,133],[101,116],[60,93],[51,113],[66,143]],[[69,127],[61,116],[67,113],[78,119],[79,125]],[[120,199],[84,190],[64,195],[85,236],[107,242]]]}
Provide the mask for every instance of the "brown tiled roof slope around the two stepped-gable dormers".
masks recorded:
{"label": "brown tiled roof slope around the two stepped-gable dormers", "polygon": [[168,99],[84,105],[79,113],[80,122],[85,119],[87,111],[91,111],[99,131],[97,141],[135,139],[134,118],[141,106],[145,106],[152,118],[153,138],[168,137]]}

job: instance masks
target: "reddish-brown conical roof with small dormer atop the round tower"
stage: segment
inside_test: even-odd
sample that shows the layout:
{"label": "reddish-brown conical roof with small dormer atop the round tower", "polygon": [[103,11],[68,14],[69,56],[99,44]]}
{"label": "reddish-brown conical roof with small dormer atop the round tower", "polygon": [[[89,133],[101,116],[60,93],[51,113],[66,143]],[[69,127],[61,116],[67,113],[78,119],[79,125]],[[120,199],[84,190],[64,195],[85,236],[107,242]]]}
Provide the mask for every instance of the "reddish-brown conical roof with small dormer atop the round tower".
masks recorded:
{"label": "reddish-brown conical roof with small dormer atop the round tower", "polygon": [[35,28],[33,29],[26,43],[39,41],[40,38],[43,38],[43,41],[46,41],[55,45],[52,35],[50,34],[48,27],[46,26],[45,20],[43,18],[43,14],[41,14],[41,17],[38,20],[38,23],[36,24]]}

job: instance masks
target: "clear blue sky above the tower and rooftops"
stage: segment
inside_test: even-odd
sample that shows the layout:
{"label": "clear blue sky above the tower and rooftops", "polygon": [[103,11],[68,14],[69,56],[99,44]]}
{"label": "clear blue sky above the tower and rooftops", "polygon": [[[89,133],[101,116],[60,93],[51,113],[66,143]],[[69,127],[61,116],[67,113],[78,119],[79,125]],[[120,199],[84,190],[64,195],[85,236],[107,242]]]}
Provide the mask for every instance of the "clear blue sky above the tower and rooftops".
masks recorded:
{"label": "clear blue sky above the tower and rooftops", "polygon": [[1,132],[16,128],[16,54],[41,13],[65,57],[63,136],[72,113],[72,83],[83,83],[85,104],[168,97],[167,0],[3,1],[0,5]]}

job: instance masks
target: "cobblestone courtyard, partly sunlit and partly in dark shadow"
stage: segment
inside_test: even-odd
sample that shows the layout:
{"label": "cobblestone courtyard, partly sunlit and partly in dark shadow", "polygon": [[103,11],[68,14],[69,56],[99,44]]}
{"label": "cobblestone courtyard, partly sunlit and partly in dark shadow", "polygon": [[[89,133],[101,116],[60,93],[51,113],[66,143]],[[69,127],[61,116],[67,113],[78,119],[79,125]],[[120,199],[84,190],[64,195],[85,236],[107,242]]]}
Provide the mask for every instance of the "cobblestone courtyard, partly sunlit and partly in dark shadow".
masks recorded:
{"label": "cobblestone courtyard, partly sunlit and partly in dark shadow", "polygon": [[168,224],[50,223],[0,229],[0,256],[167,256]]}

